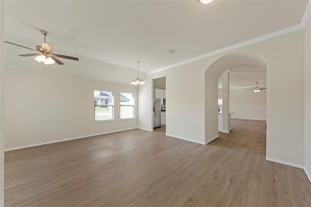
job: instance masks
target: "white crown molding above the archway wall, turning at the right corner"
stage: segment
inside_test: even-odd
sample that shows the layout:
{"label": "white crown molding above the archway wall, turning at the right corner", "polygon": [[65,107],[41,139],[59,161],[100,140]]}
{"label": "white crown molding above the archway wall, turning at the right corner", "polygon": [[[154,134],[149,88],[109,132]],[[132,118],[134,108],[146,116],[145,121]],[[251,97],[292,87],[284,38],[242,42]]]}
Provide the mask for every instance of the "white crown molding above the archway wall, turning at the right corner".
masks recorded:
{"label": "white crown molding above the archway wall, turning at the right corner", "polygon": [[289,34],[289,33],[292,33],[292,32],[296,32],[298,30],[303,30],[305,28],[306,23],[308,22],[310,14],[311,14],[311,3],[310,3],[310,1],[311,0],[308,0],[307,6],[305,7],[305,12],[303,13],[303,17],[301,19],[301,23],[299,23],[299,24],[297,24],[295,26],[291,26],[289,28],[278,30],[276,32],[271,32],[269,34],[264,34],[264,35],[262,35],[260,37],[255,37],[254,39],[249,39],[249,40],[243,41],[241,43],[236,43],[236,44],[234,44],[232,46],[227,46],[227,47],[221,48],[219,50],[214,50],[212,52],[208,52],[208,53],[206,53],[204,55],[199,55],[197,57],[186,59],[185,61],[180,61],[178,63],[173,63],[173,64],[171,64],[169,66],[164,66],[162,68],[158,68],[158,69],[153,70],[151,72],[147,72],[147,75],[151,75],[153,73],[157,73],[157,72],[161,72],[161,71],[164,71],[164,70],[168,70],[170,68],[175,68],[177,66],[182,66],[182,65],[185,65],[187,63],[191,63],[191,62],[194,62],[194,61],[198,61],[200,59],[205,59],[207,57],[211,57],[211,56],[214,56],[214,55],[221,54],[223,52],[229,52],[231,50],[236,50],[238,48],[242,48],[244,46],[249,46],[249,45],[252,45],[254,43],[265,41],[267,39],[272,39],[274,37],[279,37],[279,36],[282,36],[284,34]]}

